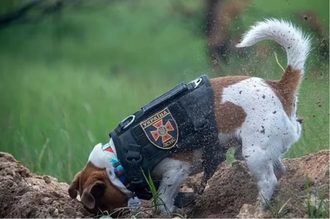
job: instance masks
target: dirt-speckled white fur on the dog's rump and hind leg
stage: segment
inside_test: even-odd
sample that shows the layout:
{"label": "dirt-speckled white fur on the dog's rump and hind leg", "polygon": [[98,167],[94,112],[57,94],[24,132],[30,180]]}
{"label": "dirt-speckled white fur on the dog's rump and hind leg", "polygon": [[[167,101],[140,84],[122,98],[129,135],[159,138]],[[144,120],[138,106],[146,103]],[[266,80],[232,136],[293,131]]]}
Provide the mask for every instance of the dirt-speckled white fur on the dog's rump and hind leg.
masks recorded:
{"label": "dirt-speckled white fur on the dog's rump and hind leg", "polygon": [[259,200],[269,201],[284,172],[281,156],[300,138],[300,124],[290,120],[262,78],[248,78],[224,88],[225,102],[242,107],[247,114],[236,136],[242,139],[243,158],[258,180]]}

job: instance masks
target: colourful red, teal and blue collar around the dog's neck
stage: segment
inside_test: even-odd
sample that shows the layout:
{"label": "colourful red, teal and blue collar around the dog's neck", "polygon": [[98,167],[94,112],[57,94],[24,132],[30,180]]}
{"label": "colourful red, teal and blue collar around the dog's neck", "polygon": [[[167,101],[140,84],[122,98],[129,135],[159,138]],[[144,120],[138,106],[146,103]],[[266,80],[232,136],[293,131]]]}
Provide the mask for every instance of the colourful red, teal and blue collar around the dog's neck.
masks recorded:
{"label": "colourful red, teal and blue collar around the dog's neck", "polygon": [[110,163],[114,167],[114,172],[118,179],[124,184],[126,187],[128,186],[128,180],[125,176],[125,170],[123,166],[121,166],[117,156],[116,156],[116,149],[112,148],[109,143],[106,143],[102,146],[103,152],[105,152],[106,156],[109,158]]}

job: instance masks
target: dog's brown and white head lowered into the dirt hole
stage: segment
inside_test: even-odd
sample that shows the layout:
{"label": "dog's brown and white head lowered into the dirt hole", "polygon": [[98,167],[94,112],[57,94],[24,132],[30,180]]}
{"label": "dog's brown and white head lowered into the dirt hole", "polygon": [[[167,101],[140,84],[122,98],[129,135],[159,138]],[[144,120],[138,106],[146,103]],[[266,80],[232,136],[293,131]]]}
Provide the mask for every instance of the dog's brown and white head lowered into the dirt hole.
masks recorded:
{"label": "dog's brown and white head lowered into the dirt hole", "polygon": [[113,167],[110,164],[102,164],[105,159],[98,153],[99,148],[100,145],[96,145],[91,155],[98,157],[100,162],[93,162],[90,156],[85,168],[76,174],[68,192],[73,199],[79,192],[82,203],[91,212],[113,212],[115,208],[126,206],[128,190],[118,183],[119,179],[114,175]]}

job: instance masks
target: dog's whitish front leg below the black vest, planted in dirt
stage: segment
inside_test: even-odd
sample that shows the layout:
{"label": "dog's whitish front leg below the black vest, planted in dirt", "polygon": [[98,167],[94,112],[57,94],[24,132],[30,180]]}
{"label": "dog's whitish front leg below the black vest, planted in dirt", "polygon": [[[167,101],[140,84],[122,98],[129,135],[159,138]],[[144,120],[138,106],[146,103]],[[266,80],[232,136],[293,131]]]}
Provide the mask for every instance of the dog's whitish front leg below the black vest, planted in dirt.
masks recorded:
{"label": "dog's whitish front leg below the black vest, planted in dirt", "polygon": [[159,211],[172,213],[175,210],[174,200],[182,182],[188,177],[190,164],[184,161],[165,158],[153,170],[153,175],[161,176],[159,185]]}

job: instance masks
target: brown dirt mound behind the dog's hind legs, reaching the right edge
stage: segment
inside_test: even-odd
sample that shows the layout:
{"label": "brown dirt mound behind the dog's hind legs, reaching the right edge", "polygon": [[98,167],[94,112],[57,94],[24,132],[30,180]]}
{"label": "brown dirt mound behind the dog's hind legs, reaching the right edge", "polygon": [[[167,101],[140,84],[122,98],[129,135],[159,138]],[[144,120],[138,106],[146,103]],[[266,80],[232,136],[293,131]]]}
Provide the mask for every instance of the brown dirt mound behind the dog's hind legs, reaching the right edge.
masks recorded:
{"label": "brown dirt mound behind the dog's hind legs, reaching the right edge", "polygon": [[[329,151],[284,160],[283,164],[286,172],[279,182],[274,200],[270,203],[272,212],[265,215],[266,217],[276,216],[273,215],[274,212],[279,212],[290,198],[285,204],[285,209],[288,210],[285,214],[282,211],[281,217],[305,216],[306,210],[301,198],[306,196],[306,176],[309,177],[310,190],[321,192],[326,196],[325,199],[329,199]],[[199,182],[200,176],[190,177],[185,187],[195,188]],[[244,162],[222,164],[208,184],[205,192],[197,198],[195,206],[187,210],[189,217],[236,218],[244,204],[256,203],[257,185]]]}

